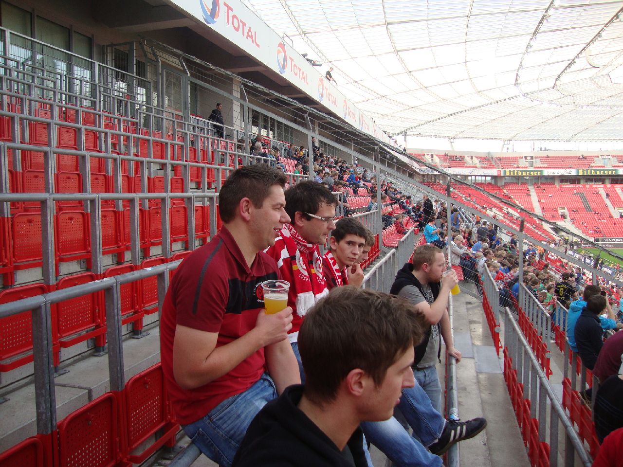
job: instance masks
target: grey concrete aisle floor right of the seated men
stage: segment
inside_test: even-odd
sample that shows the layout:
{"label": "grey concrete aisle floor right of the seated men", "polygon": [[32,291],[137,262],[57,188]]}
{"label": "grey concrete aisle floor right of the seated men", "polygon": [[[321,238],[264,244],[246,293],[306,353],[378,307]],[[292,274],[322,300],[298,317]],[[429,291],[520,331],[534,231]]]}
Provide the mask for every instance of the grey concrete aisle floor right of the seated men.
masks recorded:
{"label": "grey concrete aisle floor right of the seated men", "polygon": [[[465,282],[460,286],[473,288]],[[487,418],[483,433],[459,444],[460,465],[530,466],[482,303],[467,293],[455,295],[453,324],[455,347],[463,357],[457,365],[459,417]]]}

